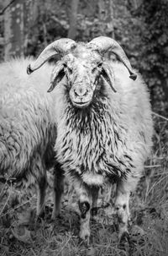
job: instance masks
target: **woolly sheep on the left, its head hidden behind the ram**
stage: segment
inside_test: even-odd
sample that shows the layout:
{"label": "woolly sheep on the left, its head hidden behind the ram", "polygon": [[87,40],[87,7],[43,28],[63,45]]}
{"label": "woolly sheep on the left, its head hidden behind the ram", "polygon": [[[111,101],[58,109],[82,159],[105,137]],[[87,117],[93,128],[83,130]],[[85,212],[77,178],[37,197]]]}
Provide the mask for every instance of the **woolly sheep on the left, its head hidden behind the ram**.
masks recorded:
{"label": "woolly sheep on the left, its head hidden behind the ram", "polygon": [[46,93],[52,67],[29,77],[25,68],[30,61],[0,64],[0,175],[27,187],[37,183],[37,215],[42,215],[56,138],[52,96]]}

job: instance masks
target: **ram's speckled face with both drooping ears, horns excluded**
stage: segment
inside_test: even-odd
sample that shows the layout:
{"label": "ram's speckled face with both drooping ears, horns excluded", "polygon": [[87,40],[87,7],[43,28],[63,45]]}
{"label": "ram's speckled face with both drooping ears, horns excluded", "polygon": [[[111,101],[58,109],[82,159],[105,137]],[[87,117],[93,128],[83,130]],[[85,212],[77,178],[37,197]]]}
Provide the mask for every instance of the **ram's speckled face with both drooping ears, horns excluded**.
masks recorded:
{"label": "ram's speckled face with both drooping ears, horns excluded", "polygon": [[[51,87],[60,82],[63,77],[67,79],[67,88],[73,106],[85,108],[89,106],[95,95],[99,79],[111,81],[107,74],[106,65],[102,56],[91,48],[78,46],[73,52],[57,63],[51,76]],[[113,83],[111,81],[111,83]]]}

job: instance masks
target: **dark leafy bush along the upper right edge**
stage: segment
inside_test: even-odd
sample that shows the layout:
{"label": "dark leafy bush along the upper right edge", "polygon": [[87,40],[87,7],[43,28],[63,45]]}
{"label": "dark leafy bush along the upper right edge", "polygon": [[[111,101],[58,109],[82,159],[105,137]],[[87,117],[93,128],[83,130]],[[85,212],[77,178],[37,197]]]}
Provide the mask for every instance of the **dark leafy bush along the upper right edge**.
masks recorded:
{"label": "dark leafy bush along the upper right edge", "polygon": [[[168,110],[168,2],[143,1],[134,17],[140,18],[139,70],[150,87],[157,112]],[[165,104],[164,104],[165,102]]]}

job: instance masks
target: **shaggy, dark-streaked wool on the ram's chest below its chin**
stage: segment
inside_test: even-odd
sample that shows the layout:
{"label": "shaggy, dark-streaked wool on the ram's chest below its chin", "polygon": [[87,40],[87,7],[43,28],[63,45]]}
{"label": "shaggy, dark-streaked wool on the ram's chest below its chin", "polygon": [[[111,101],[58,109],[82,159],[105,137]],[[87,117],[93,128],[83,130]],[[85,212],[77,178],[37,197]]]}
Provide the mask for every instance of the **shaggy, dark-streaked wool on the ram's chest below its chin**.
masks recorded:
{"label": "shaggy, dark-streaked wool on the ram's chest below its chin", "polygon": [[78,177],[100,175],[101,180],[121,177],[129,168],[123,160],[125,141],[108,112],[69,115],[61,118],[55,143],[56,159],[64,171]]}

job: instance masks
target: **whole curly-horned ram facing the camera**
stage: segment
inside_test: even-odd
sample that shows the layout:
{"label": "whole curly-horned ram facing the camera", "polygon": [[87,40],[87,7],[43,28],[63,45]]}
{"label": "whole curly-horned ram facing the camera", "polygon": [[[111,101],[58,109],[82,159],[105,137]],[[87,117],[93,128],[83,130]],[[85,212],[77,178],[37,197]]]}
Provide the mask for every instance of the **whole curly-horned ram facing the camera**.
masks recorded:
{"label": "whole curly-horned ram facing the camera", "polygon": [[[113,52],[118,62],[104,57],[106,52]],[[53,217],[60,213],[66,176],[78,194],[80,237],[85,240],[90,237],[91,210],[97,208],[99,188],[116,183],[114,208],[122,240],[129,236],[129,195],[142,176],[152,146],[147,86],[118,42],[106,36],[88,43],[54,41],[29,64],[27,73],[55,54],[60,61],[52,71],[48,90],[55,91],[55,160],[60,165],[55,172],[58,209]]]}

